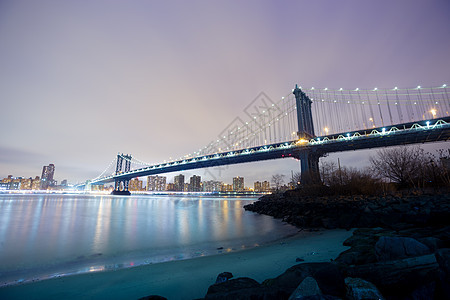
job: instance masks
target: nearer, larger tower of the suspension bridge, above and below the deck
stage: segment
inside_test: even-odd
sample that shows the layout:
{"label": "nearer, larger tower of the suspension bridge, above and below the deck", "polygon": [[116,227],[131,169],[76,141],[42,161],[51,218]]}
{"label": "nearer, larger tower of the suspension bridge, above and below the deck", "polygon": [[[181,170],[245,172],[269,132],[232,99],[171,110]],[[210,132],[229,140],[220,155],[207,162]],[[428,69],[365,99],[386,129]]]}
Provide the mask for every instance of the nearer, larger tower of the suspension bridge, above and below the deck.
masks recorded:
{"label": "nearer, larger tower of the suspension bridge, above and below the deck", "polygon": [[[293,94],[295,95],[295,104],[297,107],[298,138],[304,140],[312,139],[315,137],[311,113],[312,101],[297,84],[295,85]],[[300,160],[302,184],[320,183],[319,157],[321,155],[310,149],[301,149],[295,156]]]}

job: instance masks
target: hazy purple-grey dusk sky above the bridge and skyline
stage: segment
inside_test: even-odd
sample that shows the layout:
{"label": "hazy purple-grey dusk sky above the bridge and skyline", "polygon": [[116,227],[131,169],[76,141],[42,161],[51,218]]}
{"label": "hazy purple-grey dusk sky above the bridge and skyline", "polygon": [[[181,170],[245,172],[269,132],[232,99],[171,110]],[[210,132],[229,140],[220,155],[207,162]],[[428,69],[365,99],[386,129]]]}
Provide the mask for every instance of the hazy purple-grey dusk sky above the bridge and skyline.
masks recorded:
{"label": "hazy purple-grey dusk sky above the bridge and skyline", "polygon": [[[450,1],[0,1],[0,177],[99,175],[216,139],[260,93],[450,84]],[[448,148],[447,143],[441,147]],[[371,151],[339,153],[368,164]],[[293,159],[185,172],[246,185]],[[169,181],[173,174],[168,174]]]}

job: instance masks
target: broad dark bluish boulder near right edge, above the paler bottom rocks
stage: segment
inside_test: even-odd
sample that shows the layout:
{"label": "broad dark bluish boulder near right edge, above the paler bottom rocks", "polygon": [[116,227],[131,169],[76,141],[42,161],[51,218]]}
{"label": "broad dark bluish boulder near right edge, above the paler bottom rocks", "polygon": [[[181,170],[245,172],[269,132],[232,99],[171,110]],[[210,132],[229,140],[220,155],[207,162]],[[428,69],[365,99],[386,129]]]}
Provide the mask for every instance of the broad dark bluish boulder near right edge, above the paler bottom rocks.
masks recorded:
{"label": "broad dark bluish boulder near right edge, above the paler bottom rocks", "polygon": [[396,260],[430,254],[430,249],[421,242],[408,237],[382,236],[375,244],[378,261]]}

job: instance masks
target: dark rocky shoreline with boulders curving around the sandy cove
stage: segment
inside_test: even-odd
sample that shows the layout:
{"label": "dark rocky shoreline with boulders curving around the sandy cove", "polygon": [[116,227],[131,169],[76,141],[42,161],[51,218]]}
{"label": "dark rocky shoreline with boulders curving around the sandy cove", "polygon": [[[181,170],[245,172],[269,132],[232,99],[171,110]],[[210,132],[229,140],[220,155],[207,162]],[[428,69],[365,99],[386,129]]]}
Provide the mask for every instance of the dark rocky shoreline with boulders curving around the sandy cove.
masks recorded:
{"label": "dark rocky shoreline with boulders curving around the sandy cove", "polygon": [[[450,193],[320,196],[288,191],[246,210],[299,228],[359,228],[328,263],[261,284],[218,277],[205,299],[450,299]],[[299,259],[301,261],[301,259]]]}

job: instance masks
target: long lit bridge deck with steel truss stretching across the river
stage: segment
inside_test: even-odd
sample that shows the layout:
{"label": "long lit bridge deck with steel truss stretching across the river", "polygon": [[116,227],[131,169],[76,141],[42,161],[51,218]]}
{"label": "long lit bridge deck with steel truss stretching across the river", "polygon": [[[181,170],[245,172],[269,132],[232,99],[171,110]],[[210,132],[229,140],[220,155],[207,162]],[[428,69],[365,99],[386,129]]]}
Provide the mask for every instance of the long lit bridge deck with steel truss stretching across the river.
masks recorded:
{"label": "long lit bridge deck with steel truss stretching across the river", "polygon": [[134,177],[277,158],[299,158],[302,151],[312,151],[312,153],[322,156],[333,152],[447,141],[449,139],[450,117],[445,117],[315,137],[309,141],[293,140],[266,146],[203,155],[103,177],[92,180],[90,183],[104,184],[113,182],[115,179],[131,179]]}

